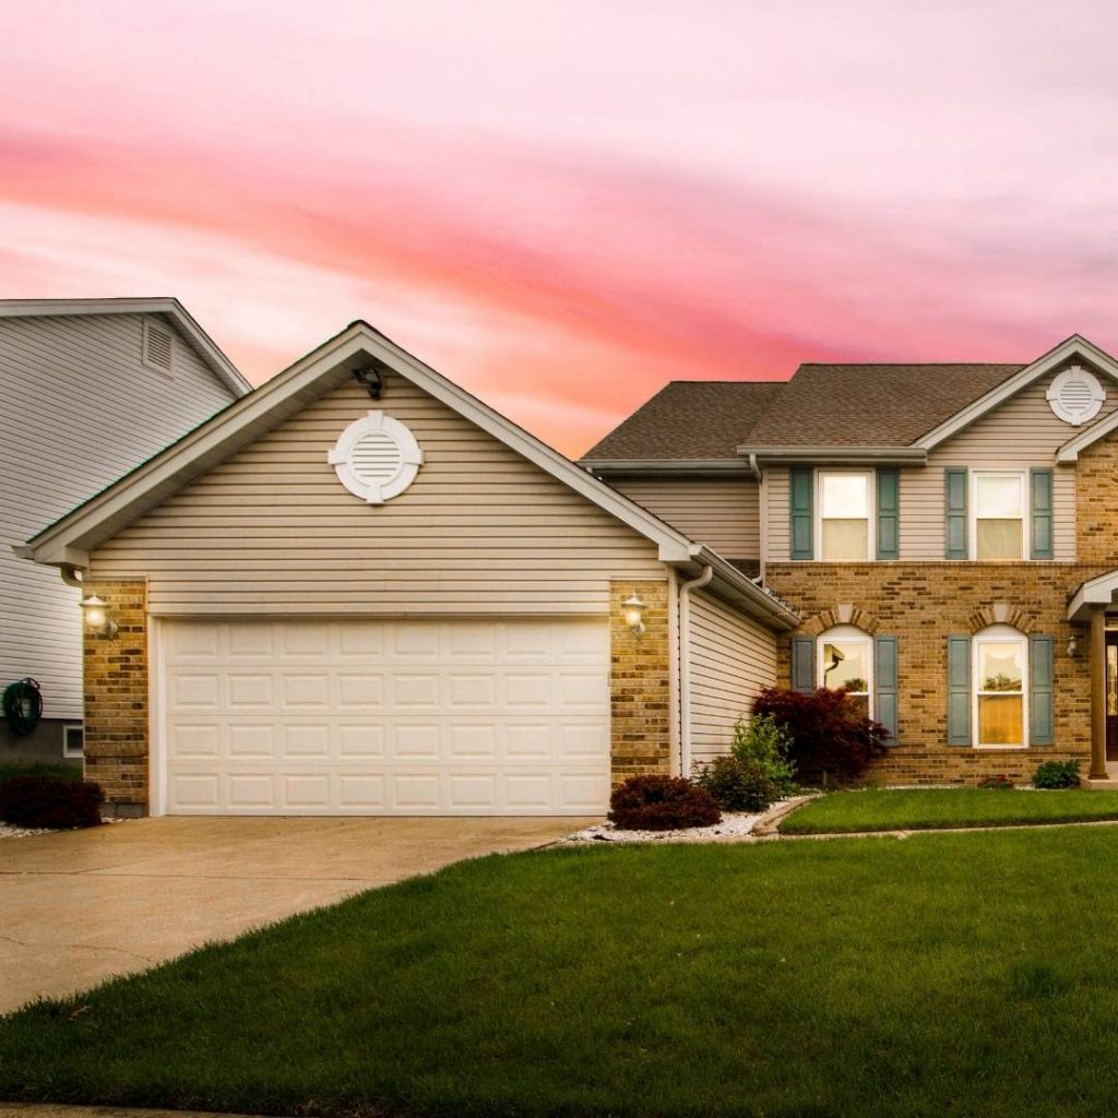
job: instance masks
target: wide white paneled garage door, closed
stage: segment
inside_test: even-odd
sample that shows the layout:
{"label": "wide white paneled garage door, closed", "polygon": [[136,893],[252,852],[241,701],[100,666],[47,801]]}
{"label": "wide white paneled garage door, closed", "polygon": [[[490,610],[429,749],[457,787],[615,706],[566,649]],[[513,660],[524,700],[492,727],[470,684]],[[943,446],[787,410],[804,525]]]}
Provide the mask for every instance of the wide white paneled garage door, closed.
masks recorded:
{"label": "wide white paneled garage door, closed", "polygon": [[170,814],[606,807],[600,620],[164,622],[160,645]]}

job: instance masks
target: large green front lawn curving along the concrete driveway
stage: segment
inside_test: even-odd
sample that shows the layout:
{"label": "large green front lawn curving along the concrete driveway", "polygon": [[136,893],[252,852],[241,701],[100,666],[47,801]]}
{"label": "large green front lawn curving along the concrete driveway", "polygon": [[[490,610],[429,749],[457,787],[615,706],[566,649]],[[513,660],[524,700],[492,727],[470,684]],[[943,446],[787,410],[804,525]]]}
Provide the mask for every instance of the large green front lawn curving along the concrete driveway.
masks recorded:
{"label": "large green front lawn curving along the concrete driveway", "polygon": [[1116,840],[463,863],[0,1021],[0,1098],[363,1118],[1108,1114]]}

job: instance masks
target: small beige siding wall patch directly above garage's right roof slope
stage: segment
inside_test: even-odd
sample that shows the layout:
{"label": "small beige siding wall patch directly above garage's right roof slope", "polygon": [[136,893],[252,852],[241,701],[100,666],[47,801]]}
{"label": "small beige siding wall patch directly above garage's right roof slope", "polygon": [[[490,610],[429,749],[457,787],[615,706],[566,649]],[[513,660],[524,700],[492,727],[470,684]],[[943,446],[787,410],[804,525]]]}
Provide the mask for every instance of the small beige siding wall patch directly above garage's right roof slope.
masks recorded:
{"label": "small beige siding wall patch directly above garage's right roof slope", "polygon": [[751,477],[625,479],[610,484],[727,559],[760,558],[760,506]]}

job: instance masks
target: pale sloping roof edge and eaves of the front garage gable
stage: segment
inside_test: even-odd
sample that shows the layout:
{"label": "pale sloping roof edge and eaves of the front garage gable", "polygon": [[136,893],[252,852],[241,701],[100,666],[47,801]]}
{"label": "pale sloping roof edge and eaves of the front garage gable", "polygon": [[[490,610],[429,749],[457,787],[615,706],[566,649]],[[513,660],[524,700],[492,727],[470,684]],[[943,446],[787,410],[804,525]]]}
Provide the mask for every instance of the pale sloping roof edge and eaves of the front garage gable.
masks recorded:
{"label": "pale sloping roof edge and eaves of the front garage gable", "polygon": [[60,567],[88,566],[89,551],[183,489],[196,477],[309,402],[370,366],[405,377],[482,430],[522,455],[569,489],[657,546],[663,562],[709,566],[722,591],[770,625],[793,628],[795,612],[717,552],[631,501],[558,451],[447,380],[367,322],[353,322],[319,349],[266,381],[248,396],[189,432],[85,504],[45,528],[23,548],[25,558]]}

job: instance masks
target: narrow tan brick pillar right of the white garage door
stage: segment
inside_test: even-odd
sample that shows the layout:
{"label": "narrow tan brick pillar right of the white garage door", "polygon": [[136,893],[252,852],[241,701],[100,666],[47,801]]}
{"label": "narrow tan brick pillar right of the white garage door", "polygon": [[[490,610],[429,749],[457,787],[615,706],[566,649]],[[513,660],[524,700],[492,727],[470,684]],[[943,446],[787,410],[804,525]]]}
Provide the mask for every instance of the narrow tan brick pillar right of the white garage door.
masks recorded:
{"label": "narrow tan brick pillar right of the white garage door", "polygon": [[[647,607],[639,638],[622,603],[637,594]],[[671,773],[671,682],[667,582],[609,584],[610,774],[616,787],[643,773]]]}

